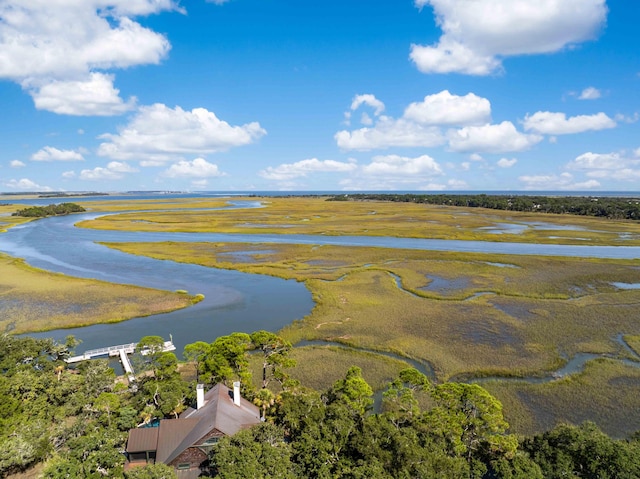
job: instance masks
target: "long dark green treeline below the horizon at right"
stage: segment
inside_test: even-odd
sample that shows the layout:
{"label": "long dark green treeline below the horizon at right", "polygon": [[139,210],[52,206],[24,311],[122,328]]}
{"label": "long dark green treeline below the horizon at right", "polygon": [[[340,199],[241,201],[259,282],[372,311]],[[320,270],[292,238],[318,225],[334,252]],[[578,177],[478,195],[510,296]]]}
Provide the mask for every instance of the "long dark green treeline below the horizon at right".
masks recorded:
{"label": "long dark green treeline below the horizon at right", "polygon": [[493,210],[526,211],[555,214],[596,216],[617,220],[640,220],[638,198],[595,196],[517,196],[517,195],[415,195],[415,194],[348,194],[336,195],[330,201],[398,201],[430,205],[466,206]]}

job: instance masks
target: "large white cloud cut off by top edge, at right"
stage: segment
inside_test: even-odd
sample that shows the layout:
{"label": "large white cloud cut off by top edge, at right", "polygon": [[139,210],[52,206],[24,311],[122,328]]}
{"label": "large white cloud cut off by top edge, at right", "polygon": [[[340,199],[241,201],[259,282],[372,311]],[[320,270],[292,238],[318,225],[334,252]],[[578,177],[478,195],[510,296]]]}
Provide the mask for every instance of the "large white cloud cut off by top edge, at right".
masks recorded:
{"label": "large white cloud cut off by top edge, at right", "polygon": [[442,36],[412,45],[425,73],[488,75],[508,56],[552,53],[596,37],[606,0],[415,0],[430,6]]}

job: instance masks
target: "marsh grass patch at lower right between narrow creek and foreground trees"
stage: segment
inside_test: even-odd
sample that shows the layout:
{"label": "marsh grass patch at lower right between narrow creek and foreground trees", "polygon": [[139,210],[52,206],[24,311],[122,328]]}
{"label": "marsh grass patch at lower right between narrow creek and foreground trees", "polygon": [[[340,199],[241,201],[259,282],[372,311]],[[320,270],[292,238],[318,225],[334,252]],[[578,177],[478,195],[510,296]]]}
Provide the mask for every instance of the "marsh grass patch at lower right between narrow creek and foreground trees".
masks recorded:
{"label": "marsh grass patch at lower right between narrow creek and foreground trees", "polygon": [[640,368],[618,361],[590,361],[583,372],[544,384],[487,381],[482,386],[500,399],[511,428],[522,434],[587,420],[614,437],[640,430]]}

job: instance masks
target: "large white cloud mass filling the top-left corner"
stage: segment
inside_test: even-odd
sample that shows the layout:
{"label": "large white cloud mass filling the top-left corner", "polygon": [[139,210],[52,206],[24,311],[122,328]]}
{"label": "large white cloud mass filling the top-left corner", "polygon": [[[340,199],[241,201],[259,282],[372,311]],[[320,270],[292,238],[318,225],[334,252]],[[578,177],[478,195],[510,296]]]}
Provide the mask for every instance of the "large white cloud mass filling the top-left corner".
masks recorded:
{"label": "large white cloud mass filling the top-left corner", "polygon": [[[130,101],[117,98],[111,75],[96,72],[164,59],[169,41],[135,17],[167,10],[182,11],[173,0],[3,0],[0,78],[19,83],[40,109],[118,114]],[[81,91],[65,101],[74,85]]]}

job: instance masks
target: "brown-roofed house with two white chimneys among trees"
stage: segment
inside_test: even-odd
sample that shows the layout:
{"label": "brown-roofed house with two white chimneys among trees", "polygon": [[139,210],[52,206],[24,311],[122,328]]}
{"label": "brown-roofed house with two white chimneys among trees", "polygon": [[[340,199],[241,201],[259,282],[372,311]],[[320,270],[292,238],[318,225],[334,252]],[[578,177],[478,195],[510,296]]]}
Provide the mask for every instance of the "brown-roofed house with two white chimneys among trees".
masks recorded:
{"label": "brown-roofed house with two white chimneys among trees", "polygon": [[206,394],[198,384],[195,409],[185,410],[178,419],[162,419],[157,427],[129,431],[125,470],[164,463],[176,470],[179,479],[197,478],[221,437],[259,423],[260,410],[241,397],[239,382],[233,390],[217,384]]}

